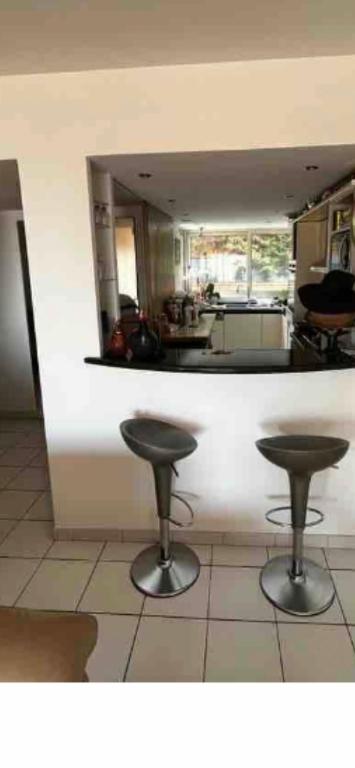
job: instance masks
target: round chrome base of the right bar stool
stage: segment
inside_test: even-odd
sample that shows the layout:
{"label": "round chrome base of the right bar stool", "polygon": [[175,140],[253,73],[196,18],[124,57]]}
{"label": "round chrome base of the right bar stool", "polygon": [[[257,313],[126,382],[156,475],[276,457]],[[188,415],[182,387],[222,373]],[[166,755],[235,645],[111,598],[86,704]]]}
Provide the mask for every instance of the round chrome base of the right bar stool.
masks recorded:
{"label": "round chrome base of the right bar stool", "polygon": [[291,555],[274,557],[261,571],[260,586],[277,608],[294,616],[315,616],[332,604],[333,582],[324,568],[304,558],[303,575],[292,579]]}

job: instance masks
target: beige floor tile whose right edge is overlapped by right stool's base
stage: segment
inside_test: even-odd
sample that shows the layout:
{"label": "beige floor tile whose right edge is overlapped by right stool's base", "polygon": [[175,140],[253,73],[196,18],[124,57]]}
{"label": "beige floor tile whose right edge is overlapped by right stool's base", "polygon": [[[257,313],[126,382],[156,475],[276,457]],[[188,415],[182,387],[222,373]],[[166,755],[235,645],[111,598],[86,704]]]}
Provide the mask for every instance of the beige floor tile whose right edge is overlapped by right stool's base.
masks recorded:
{"label": "beige floor tile whose right edge is overlapped by right stool's base", "polygon": [[210,617],[273,621],[273,608],[260,589],[259,569],[214,566]]}

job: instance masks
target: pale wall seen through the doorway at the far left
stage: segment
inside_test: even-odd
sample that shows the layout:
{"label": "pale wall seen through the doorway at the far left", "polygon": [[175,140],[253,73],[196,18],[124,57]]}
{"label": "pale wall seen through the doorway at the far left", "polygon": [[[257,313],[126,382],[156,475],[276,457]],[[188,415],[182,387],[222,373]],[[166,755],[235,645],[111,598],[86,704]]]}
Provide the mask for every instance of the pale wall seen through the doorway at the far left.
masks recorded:
{"label": "pale wall seen through the doorway at the far left", "polygon": [[0,411],[35,411],[17,221],[22,211],[0,211]]}

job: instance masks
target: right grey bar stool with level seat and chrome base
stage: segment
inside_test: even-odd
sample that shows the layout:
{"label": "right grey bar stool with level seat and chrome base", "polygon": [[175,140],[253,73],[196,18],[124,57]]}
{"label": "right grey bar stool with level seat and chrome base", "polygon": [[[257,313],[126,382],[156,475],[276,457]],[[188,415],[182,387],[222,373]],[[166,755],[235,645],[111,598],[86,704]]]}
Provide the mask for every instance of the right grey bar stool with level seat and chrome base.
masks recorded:
{"label": "right grey bar stool with level seat and chrome base", "polygon": [[[286,613],[323,613],[332,604],[335,592],[328,572],[303,557],[309,486],[315,472],[333,466],[345,456],[349,443],[337,437],[287,435],[257,440],[256,446],[268,461],[288,472],[293,531],[292,554],[274,557],[266,563],[260,575],[261,589],[271,603]],[[323,519],[322,513],[318,515]]]}

